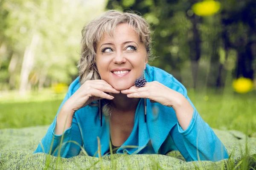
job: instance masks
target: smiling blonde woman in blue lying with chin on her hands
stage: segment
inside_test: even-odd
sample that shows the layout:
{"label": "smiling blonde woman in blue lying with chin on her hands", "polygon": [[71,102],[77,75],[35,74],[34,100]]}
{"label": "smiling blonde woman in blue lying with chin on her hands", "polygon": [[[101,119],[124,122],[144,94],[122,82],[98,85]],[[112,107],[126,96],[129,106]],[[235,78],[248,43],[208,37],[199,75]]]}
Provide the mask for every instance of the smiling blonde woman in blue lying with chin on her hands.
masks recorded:
{"label": "smiling blonde woman in blue lying with chin on her hands", "polygon": [[102,156],[119,147],[116,153],[179,150],[186,161],[228,158],[186,88],[147,64],[152,59],[150,33],[142,17],[114,10],[84,27],[79,77],[35,153],[56,156],[62,142],[61,157],[77,156],[81,146],[98,156],[99,137]]}

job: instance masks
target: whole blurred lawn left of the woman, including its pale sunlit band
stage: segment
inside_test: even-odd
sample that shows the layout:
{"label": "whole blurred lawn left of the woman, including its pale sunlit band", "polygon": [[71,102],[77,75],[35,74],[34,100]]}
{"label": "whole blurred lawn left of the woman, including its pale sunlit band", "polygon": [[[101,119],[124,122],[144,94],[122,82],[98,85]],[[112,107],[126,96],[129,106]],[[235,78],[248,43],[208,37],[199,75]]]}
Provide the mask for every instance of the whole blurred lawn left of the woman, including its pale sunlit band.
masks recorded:
{"label": "whole blurred lawn left of the woman, including its pale sunlit band", "polygon": [[64,96],[51,89],[23,96],[17,91],[0,94],[0,129],[51,124]]}

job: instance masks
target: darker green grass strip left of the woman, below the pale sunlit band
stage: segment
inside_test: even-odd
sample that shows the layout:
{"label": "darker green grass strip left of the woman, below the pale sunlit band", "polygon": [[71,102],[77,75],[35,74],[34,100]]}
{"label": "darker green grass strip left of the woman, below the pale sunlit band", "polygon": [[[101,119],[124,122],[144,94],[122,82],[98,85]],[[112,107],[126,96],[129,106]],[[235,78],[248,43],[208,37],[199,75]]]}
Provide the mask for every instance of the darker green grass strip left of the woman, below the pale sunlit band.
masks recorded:
{"label": "darker green grass strip left of the woman, below the pale sunlit band", "polygon": [[20,128],[52,123],[61,100],[0,104],[0,128]]}

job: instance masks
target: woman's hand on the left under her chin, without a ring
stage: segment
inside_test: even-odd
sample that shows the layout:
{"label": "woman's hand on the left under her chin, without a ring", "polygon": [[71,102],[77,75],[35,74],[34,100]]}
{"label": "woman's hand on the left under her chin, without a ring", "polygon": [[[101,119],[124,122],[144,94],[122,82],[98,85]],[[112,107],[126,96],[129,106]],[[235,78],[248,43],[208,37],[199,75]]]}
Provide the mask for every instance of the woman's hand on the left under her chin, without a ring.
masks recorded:
{"label": "woman's hand on the left under her chin, without a ring", "polygon": [[75,111],[89,105],[99,99],[112,100],[114,97],[107,93],[118,94],[120,91],[114,89],[108,82],[102,79],[87,80],[81,87],[65,102],[65,107]]}

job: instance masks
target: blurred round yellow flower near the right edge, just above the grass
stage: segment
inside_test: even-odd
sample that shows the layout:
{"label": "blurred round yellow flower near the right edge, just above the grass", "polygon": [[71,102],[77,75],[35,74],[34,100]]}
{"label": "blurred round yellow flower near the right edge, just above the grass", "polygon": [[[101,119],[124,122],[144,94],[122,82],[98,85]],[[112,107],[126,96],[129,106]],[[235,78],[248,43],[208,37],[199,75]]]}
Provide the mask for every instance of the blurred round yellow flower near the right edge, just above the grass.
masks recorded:
{"label": "blurred round yellow flower near the right edge, just above the grass", "polygon": [[253,81],[240,77],[239,79],[233,80],[233,88],[237,93],[247,93],[253,89]]}

